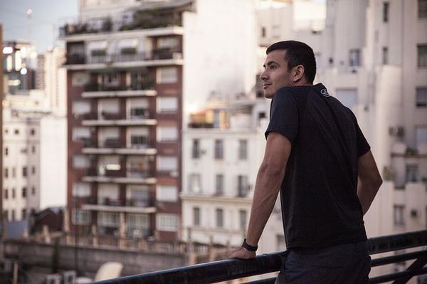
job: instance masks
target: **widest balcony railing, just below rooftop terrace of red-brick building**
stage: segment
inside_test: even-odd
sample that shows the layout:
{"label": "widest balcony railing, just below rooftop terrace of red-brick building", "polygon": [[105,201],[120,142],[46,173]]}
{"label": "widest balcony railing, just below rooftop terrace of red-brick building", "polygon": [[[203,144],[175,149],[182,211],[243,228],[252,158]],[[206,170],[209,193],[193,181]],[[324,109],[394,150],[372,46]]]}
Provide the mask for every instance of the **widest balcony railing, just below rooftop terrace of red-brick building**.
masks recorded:
{"label": "widest balcony railing, just below rooftop terrace of red-brick building", "polygon": [[105,56],[85,56],[72,54],[67,57],[65,64],[110,64],[133,61],[154,61],[167,59],[181,59],[182,53],[177,48],[159,48],[144,53],[107,54]]}

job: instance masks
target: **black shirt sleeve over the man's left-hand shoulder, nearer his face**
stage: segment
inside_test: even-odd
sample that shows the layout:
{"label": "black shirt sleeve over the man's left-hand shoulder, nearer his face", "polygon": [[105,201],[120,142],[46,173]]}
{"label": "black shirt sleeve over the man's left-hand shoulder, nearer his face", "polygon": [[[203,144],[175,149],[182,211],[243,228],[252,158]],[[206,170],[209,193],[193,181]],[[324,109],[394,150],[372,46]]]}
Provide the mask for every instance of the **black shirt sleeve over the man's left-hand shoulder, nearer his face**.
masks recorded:
{"label": "black shirt sleeve over the man's left-hand shoulder, nearer his face", "polygon": [[271,101],[270,123],[265,130],[265,139],[270,132],[278,132],[288,138],[291,144],[297,137],[298,107],[289,90],[279,90]]}

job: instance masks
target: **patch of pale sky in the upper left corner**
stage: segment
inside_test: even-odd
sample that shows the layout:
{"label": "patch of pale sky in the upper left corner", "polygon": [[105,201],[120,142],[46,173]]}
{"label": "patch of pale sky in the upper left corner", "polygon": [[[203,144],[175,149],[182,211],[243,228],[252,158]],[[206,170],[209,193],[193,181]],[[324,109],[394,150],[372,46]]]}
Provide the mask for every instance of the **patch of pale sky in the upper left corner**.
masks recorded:
{"label": "patch of pale sky in the upper left corner", "polygon": [[[31,19],[26,11],[32,10]],[[44,53],[57,41],[60,23],[78,16],[78,0],[0,0],[3,41],[30,40],[37,53]]]}

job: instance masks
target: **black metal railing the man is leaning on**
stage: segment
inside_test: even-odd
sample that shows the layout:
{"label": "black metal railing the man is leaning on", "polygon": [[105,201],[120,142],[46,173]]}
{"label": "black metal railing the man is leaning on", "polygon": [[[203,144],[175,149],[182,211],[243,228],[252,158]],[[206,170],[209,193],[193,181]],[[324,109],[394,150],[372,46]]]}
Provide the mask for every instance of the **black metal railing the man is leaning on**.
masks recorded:
{"label": "black metal railing the man is leaning on", "polygon": [[[399,251],[406,248],[420,248],[422,246],[427,246],[427,230],[369,238],[368,243],[370,255]],[[280,270],[280,254],[280,252],[263,254],[246,261],[228,259],[211,263],[201,263],[181,268],[172,268],[152,273],[103,280],[96,282],[96,284],[217,283],[276,272]],[[427,268],[424,268],[424,265],[427,263],[426,248],[421,248],[421,250],[415,252],[401,253],[396,256],[374,258],[372,260],[372,267],[409,260],[415,261],[405,271],[376,276],[371,278],[369,283],[384,283],[391,280],[395,280],[394,283],[407,283],[414,275],[427,273]],[[275,278],[267,278],[255,280],[246,284],[274,282]]]}

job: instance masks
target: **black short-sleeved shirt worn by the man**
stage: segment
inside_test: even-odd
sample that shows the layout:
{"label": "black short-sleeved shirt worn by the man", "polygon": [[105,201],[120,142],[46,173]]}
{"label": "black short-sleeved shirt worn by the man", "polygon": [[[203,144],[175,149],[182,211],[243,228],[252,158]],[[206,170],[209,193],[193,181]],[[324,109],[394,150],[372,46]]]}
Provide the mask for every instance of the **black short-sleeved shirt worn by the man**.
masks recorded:
{"label": "black short-sleeved shirt worn by the man", "polygon": [[322,84],[281,88],[265,131],[292,150],[280,190],[287,248],[367,239],[357,197],[357,161],[370,147],[349,108]]}

